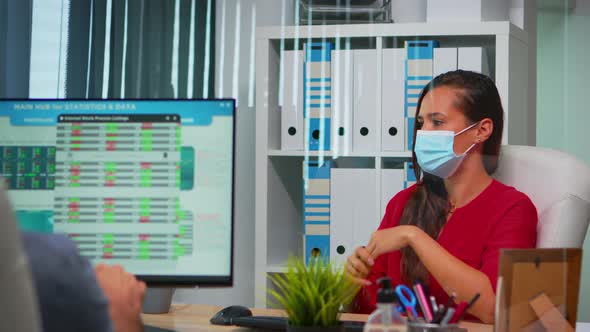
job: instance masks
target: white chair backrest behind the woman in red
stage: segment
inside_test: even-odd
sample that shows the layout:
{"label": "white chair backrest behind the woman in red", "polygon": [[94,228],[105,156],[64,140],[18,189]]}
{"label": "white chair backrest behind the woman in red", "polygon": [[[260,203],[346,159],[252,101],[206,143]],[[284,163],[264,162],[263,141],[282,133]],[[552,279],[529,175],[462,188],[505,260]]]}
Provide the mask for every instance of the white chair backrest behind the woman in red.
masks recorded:
{"label": "white chair backrest behind the woman in red", "polygon": [[590,222],[588,165],[556,150],[504,145],[494,177],[527,194],[537,207],[537,247],[582,247]]}

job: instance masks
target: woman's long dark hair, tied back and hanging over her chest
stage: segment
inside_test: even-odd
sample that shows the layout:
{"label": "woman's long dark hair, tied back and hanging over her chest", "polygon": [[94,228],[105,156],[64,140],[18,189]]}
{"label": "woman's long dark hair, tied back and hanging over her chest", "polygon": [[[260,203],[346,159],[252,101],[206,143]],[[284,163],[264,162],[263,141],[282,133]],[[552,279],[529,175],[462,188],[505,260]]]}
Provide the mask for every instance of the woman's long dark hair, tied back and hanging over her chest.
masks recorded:
{"label": "woman's long dark hair, tied back and hanging over her chest", "polygon": [[[433,239],[438,238],[447,220],[450,204],[443,179],[424,173],[418,165],[416,154],[413,152],[416,142],[416,130],[419,129],[418,113],[422,100],[426,94],[438,87],[449,87],[456,91],[455,105],[465,115],[469,124],[485,118],[492,120],[494,129],[491,136],[484,142],[483,163],[488,174],[496,171],[498,155],[502,142],[504,126],[502,103],[494,82],[487,76],[471,71],[456,70],[435,77],[424,87],[414,122],[414,146],[412,147],[412,163],[416,179],[418,180],[414,192],[411,194],[400,219],[400,225],[414,225],[421,228]],[[429,273],[420,259],[410,247],[401,250],[402,276],[404,281],[413,283],[417,280],[428,282]]]}

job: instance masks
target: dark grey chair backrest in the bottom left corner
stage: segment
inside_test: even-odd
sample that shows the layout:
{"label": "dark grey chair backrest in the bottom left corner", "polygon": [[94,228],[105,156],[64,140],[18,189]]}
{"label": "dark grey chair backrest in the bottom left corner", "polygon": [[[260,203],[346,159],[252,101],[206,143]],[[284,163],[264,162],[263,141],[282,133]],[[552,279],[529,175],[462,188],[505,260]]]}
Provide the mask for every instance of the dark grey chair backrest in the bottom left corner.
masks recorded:
{"label": "dark grey chair backrest in the bottom left corner", "polygon": [[37,297],[0,178],[0,331],[40,331]]}

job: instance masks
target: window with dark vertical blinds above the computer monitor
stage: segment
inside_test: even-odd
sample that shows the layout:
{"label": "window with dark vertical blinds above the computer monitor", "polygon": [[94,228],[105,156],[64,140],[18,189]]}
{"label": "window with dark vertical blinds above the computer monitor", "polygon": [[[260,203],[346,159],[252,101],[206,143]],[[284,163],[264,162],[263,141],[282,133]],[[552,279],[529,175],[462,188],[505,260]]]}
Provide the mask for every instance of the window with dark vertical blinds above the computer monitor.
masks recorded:
{"label": "window with dark vertical blinds above the computer monitor", "polygon": [[0,78],[6,97],[16,97],[6,88],[15,78],[27,81],[19,97],[213,95],[213,0],[8,1],[0,21],[0,60],[12,67]]}

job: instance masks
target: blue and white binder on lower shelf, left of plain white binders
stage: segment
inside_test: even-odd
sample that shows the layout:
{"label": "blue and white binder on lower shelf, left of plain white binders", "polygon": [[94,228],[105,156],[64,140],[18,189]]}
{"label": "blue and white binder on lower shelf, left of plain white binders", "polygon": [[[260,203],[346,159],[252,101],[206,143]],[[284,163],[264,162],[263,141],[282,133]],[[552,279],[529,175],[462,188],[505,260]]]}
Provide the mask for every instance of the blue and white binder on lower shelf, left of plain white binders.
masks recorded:
{"label": "blue and white binder on lower shelf, left of plain white binders", "polygon": [[331,162],[304,161],[303,248],[305,262],[330,257],[330,168]]}

